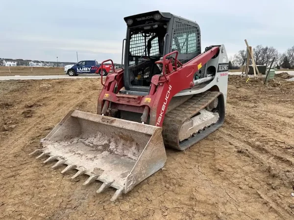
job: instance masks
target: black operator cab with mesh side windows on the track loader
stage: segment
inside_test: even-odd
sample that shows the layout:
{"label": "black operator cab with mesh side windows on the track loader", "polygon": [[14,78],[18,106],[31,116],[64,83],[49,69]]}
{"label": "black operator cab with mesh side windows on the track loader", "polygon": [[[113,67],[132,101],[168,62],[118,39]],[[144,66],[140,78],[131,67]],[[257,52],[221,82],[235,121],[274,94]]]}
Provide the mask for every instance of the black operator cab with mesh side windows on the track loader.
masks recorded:
{"label": "black operator cab with mesh side windows on the track loader", "polygon": [[179,52],[185,64],[201,53],[200,28],[171,13],[152,11],[125,17],[124,94],[147,95],[152,76],[162,69],[155,64],[165,54]]}

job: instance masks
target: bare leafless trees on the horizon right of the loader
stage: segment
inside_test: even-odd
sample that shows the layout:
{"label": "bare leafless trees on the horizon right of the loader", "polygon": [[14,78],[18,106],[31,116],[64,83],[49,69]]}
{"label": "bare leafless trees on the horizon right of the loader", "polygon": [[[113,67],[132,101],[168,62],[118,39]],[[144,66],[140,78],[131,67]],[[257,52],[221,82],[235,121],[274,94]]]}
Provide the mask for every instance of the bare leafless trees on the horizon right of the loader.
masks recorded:
{"label": "bare leafless trees on the horizon right of the loader", "polygon": [[[253,48],[253,57],[256,65],[263,65],[267,68],[270,67],[273,58],[275,58],[275,61],[272,68],[294,68],[294,46],[287,49],[284,53],[279,53],[273,46],[257,45]],[[246,65],[246,62],[246,50],[239,50],[238,53],[230,58],[229,68],[239,69],[240,66]]]}

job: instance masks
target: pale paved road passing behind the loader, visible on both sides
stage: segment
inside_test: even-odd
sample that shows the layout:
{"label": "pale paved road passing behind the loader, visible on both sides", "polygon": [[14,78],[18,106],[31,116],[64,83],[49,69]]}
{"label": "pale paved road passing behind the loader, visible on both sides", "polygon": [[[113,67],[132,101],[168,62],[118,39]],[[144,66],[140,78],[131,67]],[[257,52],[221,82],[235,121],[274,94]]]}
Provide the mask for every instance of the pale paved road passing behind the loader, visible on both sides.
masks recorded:
{"label": "pale paved road passing behind the loader, visible on both sides", "polygon": [[[276,73],[281,73],[285,71],[276,71]],[[287,71],[290,75],[294,75],[294,71]],[[241,75],[242,72],[229,72],[229,75]],[[251,75],[250,75],[251,76]],[[253,76],[253,75],[252,75]],[[77,79],[77,78],[100,78],[98,75],[83,75],[83,76],[69,76],[69,75],[59,75],[59,76],[0,76],[0,80],[40,80],[40,79]],[[293,81],[292,78],[291,81]]]}

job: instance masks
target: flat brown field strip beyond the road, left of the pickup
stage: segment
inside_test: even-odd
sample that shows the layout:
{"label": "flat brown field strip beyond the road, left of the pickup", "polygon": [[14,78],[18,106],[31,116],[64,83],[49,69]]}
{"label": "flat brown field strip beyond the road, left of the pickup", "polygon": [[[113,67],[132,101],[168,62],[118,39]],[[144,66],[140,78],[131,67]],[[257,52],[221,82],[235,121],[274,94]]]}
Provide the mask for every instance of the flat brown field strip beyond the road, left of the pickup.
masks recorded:
{"label": "flat brown field strip beyond the road, left of the pickup", "polygon": [[[10,69],[10,72],[9,72]],[[65,75],[64,67],[0,66],[0,76]]]}

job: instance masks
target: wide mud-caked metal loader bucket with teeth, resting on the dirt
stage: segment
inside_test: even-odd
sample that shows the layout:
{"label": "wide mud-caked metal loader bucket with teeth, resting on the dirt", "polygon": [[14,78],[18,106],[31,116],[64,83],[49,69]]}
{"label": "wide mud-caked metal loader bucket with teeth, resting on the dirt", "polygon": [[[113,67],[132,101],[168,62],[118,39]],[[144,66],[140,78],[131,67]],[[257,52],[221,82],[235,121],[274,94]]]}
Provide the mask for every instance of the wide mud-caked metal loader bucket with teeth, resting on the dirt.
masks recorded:
{"label": "wide mud-caked metal loader bucket with teeth, resting on the dirt", "polygon": [[[52,168],[67,165],[61,173],[76,169],[72,176],[86,174],[87,185],[103,182],[117,189],[112,201],[161,169],[166,161],[162,128],[74,110],[41,140],[36,158],[44,163],[57,160]],[[48,157],[49,156],[49,157]]]}

